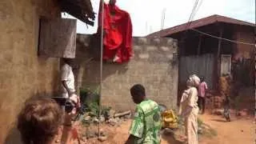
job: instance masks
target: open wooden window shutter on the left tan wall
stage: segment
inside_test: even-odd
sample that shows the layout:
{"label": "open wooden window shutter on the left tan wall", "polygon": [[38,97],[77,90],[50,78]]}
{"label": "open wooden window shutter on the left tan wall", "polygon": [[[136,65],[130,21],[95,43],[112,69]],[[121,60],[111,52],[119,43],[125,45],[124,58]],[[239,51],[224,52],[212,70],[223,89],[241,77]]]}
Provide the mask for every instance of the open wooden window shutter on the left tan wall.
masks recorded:
{"label": "open wooden window shutter on the left tan wall", "polygon": [[40,21],[39,55],[75,58],[77,20],[59,18]]}

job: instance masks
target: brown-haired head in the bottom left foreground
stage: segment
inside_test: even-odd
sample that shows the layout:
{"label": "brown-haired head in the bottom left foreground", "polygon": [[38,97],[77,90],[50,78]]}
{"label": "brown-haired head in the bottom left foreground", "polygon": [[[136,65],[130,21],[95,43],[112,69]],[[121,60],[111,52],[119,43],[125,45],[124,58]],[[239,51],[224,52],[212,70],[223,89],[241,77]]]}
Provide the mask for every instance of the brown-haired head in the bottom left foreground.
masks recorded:
{"label": "brown-haired head in the bottom left foreground", "polygon": [[24,144],[52,144],[60,133],[62,110],[51,98],[31,98],[18,115]]}

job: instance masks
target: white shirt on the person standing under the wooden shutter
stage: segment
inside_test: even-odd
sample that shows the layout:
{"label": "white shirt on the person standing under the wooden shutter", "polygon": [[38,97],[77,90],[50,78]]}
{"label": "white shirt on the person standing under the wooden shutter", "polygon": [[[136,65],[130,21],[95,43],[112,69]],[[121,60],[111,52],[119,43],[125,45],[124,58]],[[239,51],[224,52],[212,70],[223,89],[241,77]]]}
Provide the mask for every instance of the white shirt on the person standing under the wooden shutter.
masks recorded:
{"label": "white shirt on the person standing under the wooden shutter", "polygon": [[[61,80],[66,81],[67,87],[70,89],[71,92],[74,92],[74,73],[72,71],[72,67],[68,64],[64,64],[62,66],[61,70]],[[67,98],[68,97],[68,92],[66,88],[62,84],[62,96]]]}

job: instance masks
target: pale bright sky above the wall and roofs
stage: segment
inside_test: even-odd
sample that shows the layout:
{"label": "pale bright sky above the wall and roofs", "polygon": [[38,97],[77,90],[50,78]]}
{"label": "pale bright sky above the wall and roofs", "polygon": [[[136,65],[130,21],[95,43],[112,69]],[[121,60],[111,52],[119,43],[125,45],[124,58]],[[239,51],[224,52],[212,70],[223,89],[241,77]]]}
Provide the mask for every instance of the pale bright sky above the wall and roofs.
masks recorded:
{"label": "pale bright sky above the wall and roofs", "polygon": [[[130,14],[133,24],[133,36],[146,36],[161,30],[162,14],[165,10],[163,28],[170,28],[188,22],[196,0],[117,0],[116,5]],[[98,13],[99,0],[91,0],[94,12]],[[193,20],[218,14],[246,22],[255,23],[255,0],[199,0],[201,3]],[[98,15],[96,15],[97,17]],[[62,14],[62,18],[74,18]],[[78,34],[94,34],[94,26],[86,26],[78,20]]]}

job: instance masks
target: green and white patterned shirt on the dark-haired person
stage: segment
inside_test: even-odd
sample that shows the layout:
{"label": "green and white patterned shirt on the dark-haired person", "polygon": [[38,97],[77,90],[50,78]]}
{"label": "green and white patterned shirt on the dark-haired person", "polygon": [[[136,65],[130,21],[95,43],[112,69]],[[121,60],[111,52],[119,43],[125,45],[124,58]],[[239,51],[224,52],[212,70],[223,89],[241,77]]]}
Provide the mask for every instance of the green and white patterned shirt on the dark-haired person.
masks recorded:
{"label": "green and white patterned shirt on the dark-haired person", "polygon": [[137,105],[129,133],[134,144],[160,144],[161,114],[156,102],[147,99]]}

